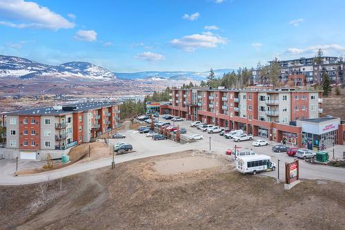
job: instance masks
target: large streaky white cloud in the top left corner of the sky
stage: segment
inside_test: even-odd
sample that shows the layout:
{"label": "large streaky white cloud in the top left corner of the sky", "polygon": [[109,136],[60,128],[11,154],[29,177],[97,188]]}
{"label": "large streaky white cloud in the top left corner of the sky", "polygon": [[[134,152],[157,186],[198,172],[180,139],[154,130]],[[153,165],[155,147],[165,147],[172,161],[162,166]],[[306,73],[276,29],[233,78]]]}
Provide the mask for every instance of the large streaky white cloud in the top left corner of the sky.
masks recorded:
{"label": "large streaky white cloud in the top left corner of the sky", "polygon": [[0,21],[0,25],[13,28],[59,30],[75,27],[74,23],[61,15],[32,1],[1,0],[0,15],[3,19],[11,20]]}

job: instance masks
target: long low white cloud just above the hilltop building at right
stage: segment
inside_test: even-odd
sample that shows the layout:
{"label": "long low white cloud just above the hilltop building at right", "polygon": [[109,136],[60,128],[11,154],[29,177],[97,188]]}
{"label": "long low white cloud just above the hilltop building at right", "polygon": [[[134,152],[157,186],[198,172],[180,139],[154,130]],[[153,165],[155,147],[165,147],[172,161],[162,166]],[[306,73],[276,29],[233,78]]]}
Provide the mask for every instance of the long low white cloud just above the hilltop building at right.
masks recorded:
{"label": "long low white cloud just above the hilltop building at right", "polygon": [[330,45],[315,45],[308,46],[306,48],[288,48],[286,50],[286,55],[304,55],[316,53],[318,49],[322,49],[324,52],[333,52],[335,54],[340,54],[340,52],[345,52],[345,46],[339,44]]}

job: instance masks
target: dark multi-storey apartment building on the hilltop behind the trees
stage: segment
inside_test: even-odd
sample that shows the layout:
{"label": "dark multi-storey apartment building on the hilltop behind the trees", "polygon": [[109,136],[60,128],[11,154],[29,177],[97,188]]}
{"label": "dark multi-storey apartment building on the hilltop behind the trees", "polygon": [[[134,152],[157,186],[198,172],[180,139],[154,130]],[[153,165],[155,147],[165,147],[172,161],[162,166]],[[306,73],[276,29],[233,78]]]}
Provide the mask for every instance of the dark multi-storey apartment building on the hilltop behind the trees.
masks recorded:
{"label": "dark multi-storey apartment building on the hilltop behind the trees", "polygon": [[[269,61],[269,64],[271,63],[272,61]],[[328,74],[332,83],[344,83],[345,61],[339,57],[322,57],[320,64],[315,63],[314,57],[301,57],[299,59],[279,61],[279,65],[281,67],[279,82],[284,84],[288,83],[289,76],[296,76],[293,78],[301,79],[297,86],[302,86],[303,83],[320,84],[323,73]],[[301,77],[301,75],[304,77]],[[253,76],[250,81],[252,84],[267,84],[266,79],[261,78],[259,70],[253,70]]]}

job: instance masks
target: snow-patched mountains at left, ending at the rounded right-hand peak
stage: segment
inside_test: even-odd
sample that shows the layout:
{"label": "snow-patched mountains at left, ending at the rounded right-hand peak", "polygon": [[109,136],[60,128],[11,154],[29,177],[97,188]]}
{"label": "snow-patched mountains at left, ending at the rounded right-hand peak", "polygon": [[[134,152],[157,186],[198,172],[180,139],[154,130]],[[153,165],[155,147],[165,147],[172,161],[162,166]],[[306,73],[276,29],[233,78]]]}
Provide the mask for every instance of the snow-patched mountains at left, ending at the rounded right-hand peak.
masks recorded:
{"label": "snow-patched mountains at left, ending at the rounded right-hand peak", "polygon": [[94,64],[72,61],[59,66],[41,64],[26,58],[0,55],[0,77],[21,77],[23,79],[51,76],[58,78],[79,77],[85,79],[111,80],[114,73]]}

